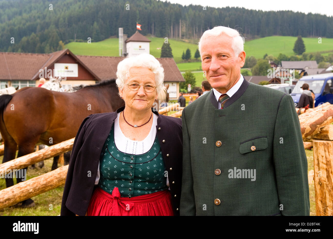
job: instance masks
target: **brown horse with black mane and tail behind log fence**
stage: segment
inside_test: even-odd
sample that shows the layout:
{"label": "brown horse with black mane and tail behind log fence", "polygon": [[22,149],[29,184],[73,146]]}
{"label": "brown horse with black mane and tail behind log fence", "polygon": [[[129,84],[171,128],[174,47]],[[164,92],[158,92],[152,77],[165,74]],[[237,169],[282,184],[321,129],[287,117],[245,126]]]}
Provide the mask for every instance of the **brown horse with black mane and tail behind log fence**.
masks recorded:
{"label": "brown horse with black mane and tail behind log fence", "polygon": [[[34,152],[38,143],[48,146],[74,138],[90,114],[112,112],[125,105],[115,80],[88,85],[73,92],[56,92],[40,87],[24,87],[14,94],[0,96],[0,132],[4,140],[2,163]],[[56,160],[58,161],[58,159]],[[57,168],[57,162],[52,170]],[[27,169],[27,168],[25,168]],[[8,175],[7,175],[8,177]],[[17,182],[24,178],[17,179]],[[6,187],[13,186],[6,178]],[[34,205],[31,199],[22,206]]]}

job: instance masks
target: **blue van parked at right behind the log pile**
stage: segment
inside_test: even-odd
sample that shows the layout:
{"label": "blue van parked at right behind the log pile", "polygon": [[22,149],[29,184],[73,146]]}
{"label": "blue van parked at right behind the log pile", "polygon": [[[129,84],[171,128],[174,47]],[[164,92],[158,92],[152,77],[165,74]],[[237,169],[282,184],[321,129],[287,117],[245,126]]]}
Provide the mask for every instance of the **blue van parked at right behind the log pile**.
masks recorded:
{"label": "blue van parked at right behind the log pile", "polygon": [[312,90],[315,94],[315,107],[325,102],[330,102],[333,104],[332,82],[333,73],[303,76],[297,81],[295,88],[290,93],[294,100],[295,106],[298,104],[299,98],[301,97],[301,87],[304,83],[307,83],[309,85],[309,90]]}

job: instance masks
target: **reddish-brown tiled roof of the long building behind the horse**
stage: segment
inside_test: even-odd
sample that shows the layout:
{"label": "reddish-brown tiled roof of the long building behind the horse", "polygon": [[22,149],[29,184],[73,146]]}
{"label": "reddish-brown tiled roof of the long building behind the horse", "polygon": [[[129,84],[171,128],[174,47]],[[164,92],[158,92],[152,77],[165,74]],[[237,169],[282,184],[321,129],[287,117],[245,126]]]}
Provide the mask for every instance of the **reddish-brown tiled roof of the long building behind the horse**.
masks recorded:
{"label": "reddish-brown tiled roof of the long building behind the horse", "polygon": [[[66,53],[72,55],[98,80],[117,78],[117,65],[124,59],[121,56],[74,55],[68,49],[48,54],[0,52],[0,80],[38,79],[40,69],[53,65]],[[157,59],[164,68],[164,81],[185,81],[173,58]]]}

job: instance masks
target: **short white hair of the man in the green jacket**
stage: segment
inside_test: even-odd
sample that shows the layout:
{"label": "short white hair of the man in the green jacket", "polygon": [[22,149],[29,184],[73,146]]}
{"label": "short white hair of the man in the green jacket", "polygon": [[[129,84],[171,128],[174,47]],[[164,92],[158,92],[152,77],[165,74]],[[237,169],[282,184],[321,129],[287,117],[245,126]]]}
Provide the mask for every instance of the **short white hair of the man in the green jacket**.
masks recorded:
{"label": "short white hair of the man in the green jacket", "polygon": [[233,53],[235,56],[238,56],[239,53],[244,50],[243,37],[239,34],[237,30],[232,29],[230,27],[216,26],[213,29],[207,30],[202,34],[198,44],[200,55],[201,55],[201,44],[203,40],[223,35],[232,38],[231,48],[233,49]]}

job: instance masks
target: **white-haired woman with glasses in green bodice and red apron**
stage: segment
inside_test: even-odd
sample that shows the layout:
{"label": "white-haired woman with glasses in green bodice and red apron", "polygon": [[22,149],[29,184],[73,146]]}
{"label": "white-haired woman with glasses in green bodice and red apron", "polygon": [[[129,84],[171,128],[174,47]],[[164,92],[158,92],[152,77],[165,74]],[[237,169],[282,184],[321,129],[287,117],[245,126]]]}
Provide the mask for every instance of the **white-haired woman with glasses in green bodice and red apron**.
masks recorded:
{"label": "white-haired woman with glasses in green bodice and red apron", "polygon": [[125,106],[81,124],[61,215],[179,215],[181,119],[152,108],[163,68],[154,56],[140,54],[122,60],[117,77]]}

